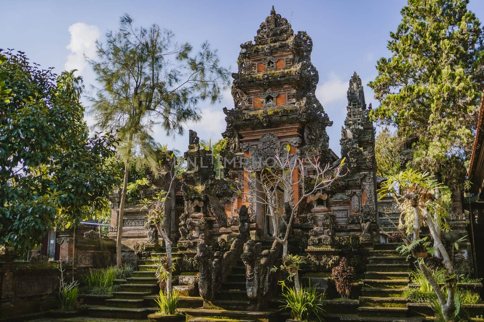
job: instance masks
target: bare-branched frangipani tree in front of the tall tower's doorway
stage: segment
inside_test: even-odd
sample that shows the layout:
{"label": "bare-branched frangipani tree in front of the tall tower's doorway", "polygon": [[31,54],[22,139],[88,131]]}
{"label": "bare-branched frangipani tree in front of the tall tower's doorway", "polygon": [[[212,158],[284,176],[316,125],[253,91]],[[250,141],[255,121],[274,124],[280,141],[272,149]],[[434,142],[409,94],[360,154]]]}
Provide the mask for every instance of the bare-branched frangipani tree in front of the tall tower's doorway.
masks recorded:
{"label": "bare-branched frangipani tree in front of the tall tower's doorway", "polygon": [[[342,174],[345,158],[337,166],[323,166],[319,157],[306,155],[300,159],[290,154],[289,145],[286,150],[282,154],[275,151],[271,158],[271,162],[274,161],[272,168],[249,171],[251,180],[256,183],[250,190],[234,188],[244,202],[265,206],[267,211],[263,215],[272,223],[272,237],[283,246],[283,257],[287,255],[287,238],[303,200],[307,201],[310,195],[328,188],[336,179],[346,175]],[[284,203],[281,203],[281,194],[284,194]]]}

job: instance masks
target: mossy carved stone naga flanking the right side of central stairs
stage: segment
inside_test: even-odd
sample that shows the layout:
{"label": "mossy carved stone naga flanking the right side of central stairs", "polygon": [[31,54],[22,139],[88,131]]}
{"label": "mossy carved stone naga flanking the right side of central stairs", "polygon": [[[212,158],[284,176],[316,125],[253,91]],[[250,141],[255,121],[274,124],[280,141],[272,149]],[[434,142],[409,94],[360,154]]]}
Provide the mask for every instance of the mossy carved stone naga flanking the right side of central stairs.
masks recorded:
{"label": "mossy carved stone naga flanking the right side of central stairs", "polygon": [[254,309],[263,308],[265,295],[272,286],[274,273],[271,272],[271,268],[281,256],[282,245],[275,240],[270,250],[262,250],[261,243],[256,243],[252,239],[243,245],[241,258],[245,265],[245,287]]}

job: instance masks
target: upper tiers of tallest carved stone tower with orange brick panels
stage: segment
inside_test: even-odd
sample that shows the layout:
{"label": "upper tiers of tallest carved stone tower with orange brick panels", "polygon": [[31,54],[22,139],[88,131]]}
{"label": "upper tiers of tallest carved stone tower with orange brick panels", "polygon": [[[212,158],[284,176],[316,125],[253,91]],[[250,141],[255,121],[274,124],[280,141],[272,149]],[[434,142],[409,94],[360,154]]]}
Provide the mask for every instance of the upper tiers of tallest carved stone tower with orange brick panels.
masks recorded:
{"label": "upper tiers of tallest carved stone tower with orange brick panels", "polygon": [[[285,151],[287,144],[291,154],[310,153],[322,162],[334,161],[326,133],[332,122],[315,96],[318,71],[311,63],[312,47],[306,32],[295,34],[273,7],[254,42],[241,45],[239,70],[232,74],[234,108],[224,109],[227,129],[223,136],[228,143],[223,156],[248,159],[246,164],[226,166],[227,176],[245,184],[245,191],[253,188],[250,178],[242,183],[247,170],[262,169],[260,160],[273,157],[276,150]],[[235,198],[235,213],[242,203]],[[263,234],[264,210],[255,202],[247,206],[252,231]]]}

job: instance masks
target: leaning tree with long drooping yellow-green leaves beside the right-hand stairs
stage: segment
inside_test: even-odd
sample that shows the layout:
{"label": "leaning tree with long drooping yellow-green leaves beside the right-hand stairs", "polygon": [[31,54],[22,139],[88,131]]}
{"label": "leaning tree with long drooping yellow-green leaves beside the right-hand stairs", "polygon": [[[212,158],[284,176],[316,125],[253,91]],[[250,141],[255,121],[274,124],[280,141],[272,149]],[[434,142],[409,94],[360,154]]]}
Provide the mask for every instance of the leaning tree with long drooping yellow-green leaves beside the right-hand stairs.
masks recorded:
{"label": "leaning tree with long drooping yellow-green leaves beside the right-hand stairs", "polygon": [[[404,237],[405,246],[398,248],[402,254],[413,256],[417,260],[420,271],[425,279],[432,285],[432,288],[439,299],[439,306],[444,321],[454,321],[456,316],[455,287],[457,276],[454,266],[442,242],[441,231],[449,231],[450,227],[446,219],[449,213],[445,203],[439,196],[443,185],[439,183],[429,172],[419,172],[414,169],[407,169],[387,181],[382,182],[378,190],[380,199],[391,195],[399,204],[402,210],[398,228],[405,234],[411,234],[411,240]],[[421,238],[422,227],[427,226],[430,236],[434,240],[433,246],[427,237]],[[404,235],[405,235],[404,234]],[[454,247],[458,249],[458,242]],[[425,263],[424,258],[428,255],[435,255],[439,252],[442,257],[445,289],[441,289],[431,269]],[[457,299],[458,302],[458,299]]]}

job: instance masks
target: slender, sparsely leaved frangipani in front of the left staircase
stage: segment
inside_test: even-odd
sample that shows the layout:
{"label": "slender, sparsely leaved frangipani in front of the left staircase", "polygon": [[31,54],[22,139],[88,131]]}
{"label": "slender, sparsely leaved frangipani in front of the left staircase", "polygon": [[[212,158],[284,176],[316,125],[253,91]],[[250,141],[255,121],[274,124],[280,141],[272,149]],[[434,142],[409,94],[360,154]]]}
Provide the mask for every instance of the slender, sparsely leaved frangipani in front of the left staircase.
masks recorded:
{"label": "slender, sparsely leaved frangipani in front of the left staircase", "polygon": [[158,235],[163,238],[165,243],[166,256],[161,259],[162,271],[156,272],[157,277],[165,280],[166,282],[166,296],[169,298],[171,294],[171,274],[174,270],[173,256],[171,254],[172,241],[166,231],[166,201],[169,199],[170,192],[174,189],[175,180],[181,175],[183,160],[177,158],[175,154],[168,156],[170,159],[168,190],[158,191],[152,198],[144,198],[140,200],[139,206],[143,206],[142,209],[148,210],[147,219],[148,222],[156,227]]}

